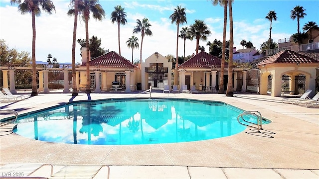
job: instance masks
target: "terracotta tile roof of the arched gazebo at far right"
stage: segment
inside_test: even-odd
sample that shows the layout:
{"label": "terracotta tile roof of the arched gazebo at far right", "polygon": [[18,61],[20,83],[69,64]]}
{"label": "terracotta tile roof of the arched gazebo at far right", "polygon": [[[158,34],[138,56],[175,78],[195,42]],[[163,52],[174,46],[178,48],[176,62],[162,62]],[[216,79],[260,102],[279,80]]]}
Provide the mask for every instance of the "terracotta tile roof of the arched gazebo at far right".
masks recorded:
{"label": "terracotta tile roof of the arched gazebo at far right", "polygon": [[318,59],[313,59],[311,57],[302,55],[300,53],[291,51],[291,50],[283,50],[265,60],[258,63],[257,66],[267,65],[273,63],[281,63],[281,64],[311,64],[311,63],[319,63]]}

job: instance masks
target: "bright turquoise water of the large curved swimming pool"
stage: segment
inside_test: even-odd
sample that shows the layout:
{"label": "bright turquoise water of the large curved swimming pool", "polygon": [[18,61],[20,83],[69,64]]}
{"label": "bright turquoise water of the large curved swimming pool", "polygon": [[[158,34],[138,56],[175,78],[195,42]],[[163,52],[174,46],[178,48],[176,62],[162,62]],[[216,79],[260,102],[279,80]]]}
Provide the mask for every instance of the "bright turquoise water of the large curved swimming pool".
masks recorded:
{"label": "bright turquoise water of the large curved swimming pool", "polygon": [[109,99],[75,102],[21,116],[14,132],[40,141],[68,144],[190,142],[243,131],[246,126],[237,121],[242,112],[216,101]]}

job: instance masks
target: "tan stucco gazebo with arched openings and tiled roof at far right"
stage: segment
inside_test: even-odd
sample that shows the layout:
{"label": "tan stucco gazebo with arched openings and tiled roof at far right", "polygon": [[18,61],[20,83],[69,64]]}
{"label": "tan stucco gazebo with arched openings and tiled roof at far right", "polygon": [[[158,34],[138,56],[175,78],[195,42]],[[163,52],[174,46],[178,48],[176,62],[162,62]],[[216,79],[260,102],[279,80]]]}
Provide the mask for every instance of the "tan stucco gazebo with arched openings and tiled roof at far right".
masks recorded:
{"label": "tan stucco gazebo with arched openings and tiled roof at far right", "polygon": [[271,92],[281,96],[284,92],[299,94],[299,89],[312,89],[315,95],[316,69],[319,60],[291,50],[283,50],[257,64],[260,69],[260,94]]}

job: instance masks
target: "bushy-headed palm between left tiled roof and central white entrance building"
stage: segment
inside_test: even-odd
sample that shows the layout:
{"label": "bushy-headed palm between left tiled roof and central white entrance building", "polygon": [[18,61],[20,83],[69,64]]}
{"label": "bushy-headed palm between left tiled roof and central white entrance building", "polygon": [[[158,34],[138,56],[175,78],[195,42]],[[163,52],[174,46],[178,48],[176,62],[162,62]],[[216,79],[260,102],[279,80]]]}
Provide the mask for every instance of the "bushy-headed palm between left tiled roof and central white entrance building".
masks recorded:
{"label": "bushy-headed palm between left tiled roof and central white entrance building", "polygon": [[137,25],[133,29],[133,33],[141,32],[142,41],[141,41],[141,52],[140,52],[140,63],[142,63],[142,47],[143,47],[143,39],[145,35],[152,36],[153,33],[150,29],[152,26],[149,22],[148,18],[143,18],[142,21],[140,19],[136,20]]}

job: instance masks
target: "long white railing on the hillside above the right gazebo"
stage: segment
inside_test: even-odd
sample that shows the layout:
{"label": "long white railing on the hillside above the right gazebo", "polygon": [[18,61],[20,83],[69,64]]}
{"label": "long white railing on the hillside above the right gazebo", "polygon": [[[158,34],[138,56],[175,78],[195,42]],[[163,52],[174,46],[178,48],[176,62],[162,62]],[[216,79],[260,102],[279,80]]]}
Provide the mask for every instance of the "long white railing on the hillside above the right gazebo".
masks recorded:
{"label": "long white railing on the hillside above the right gazebo", "polygon": [[283,51],[283,50],[286,50],[286,49],[292,50],[295,52],[318,50],[319,49],[319,42],[302,44],[302,45],[293,45],[293,46],[289,46],[289,47],[282,47],[282,48],[276,48],[276,49],[268,49],[268,50],[266,50],[266,56],[275,55],[276,53]]}

